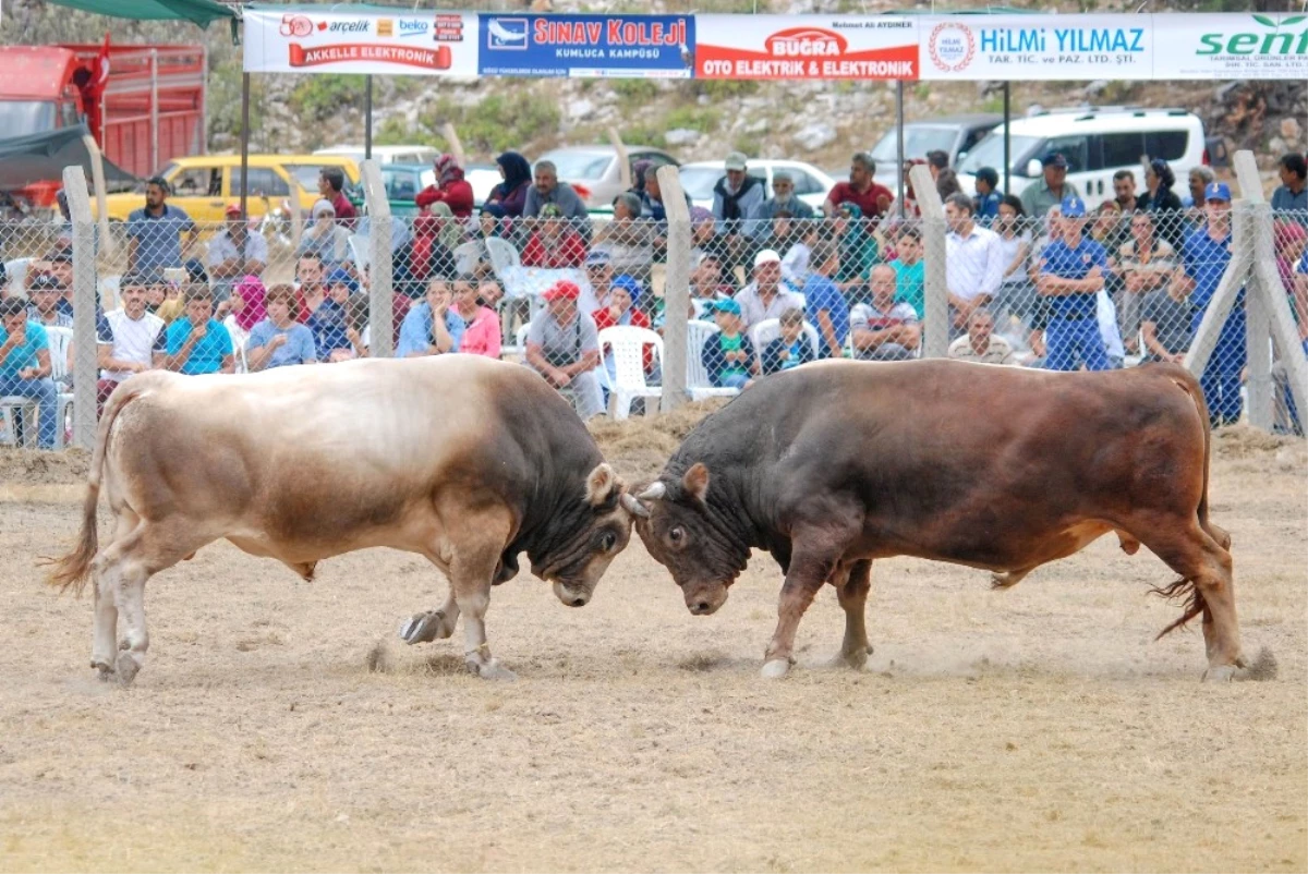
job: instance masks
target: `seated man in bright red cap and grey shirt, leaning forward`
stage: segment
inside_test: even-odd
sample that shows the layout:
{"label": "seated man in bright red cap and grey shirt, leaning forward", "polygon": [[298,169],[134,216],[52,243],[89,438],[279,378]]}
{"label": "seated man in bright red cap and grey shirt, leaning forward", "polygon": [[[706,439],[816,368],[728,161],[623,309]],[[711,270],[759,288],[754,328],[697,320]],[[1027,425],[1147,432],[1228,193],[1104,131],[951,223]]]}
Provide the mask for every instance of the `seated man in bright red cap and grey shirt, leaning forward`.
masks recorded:
{"label": "seated man in bright red cap and grey shirt, leaning forward", "polygon": [[572,389],[573,406],[582,420],[604,412],[599,385],[599,331],[595,319],[577,309],[581,289],[560,280],[542,297],[545,311],[527,331],[527,365],[556,389]]}

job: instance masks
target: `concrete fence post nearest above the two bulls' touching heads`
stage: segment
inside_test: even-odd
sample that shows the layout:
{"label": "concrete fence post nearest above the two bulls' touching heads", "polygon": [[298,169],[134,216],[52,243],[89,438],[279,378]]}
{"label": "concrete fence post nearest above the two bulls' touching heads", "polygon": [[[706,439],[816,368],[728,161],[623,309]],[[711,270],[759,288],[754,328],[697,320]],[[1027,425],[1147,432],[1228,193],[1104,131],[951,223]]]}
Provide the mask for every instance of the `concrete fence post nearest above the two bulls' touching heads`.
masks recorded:
{"label": "concrete fence post nearest above the two bulls' touching heads", "polygon": [[681,178],[674,166],[658,169],[658,184],[667,211],[667,273],[663,279],[663,398],[662,412],[685,402],[687,313],[691,307],[691,211]]}

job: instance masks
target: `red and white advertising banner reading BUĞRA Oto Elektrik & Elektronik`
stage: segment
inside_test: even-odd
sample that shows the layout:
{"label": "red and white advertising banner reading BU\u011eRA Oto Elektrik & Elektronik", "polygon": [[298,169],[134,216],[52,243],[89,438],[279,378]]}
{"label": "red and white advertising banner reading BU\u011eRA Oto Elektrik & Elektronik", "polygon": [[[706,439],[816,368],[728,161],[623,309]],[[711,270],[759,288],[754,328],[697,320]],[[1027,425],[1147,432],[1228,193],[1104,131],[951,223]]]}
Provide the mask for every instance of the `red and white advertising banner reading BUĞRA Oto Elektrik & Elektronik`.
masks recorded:
{"label": "red and white advertising banner reading BU\u011eRA Oto Elektrik & Elektronik", "polygon": [[696,16],[698,79],[917,79],[918,31],[893,16]]}

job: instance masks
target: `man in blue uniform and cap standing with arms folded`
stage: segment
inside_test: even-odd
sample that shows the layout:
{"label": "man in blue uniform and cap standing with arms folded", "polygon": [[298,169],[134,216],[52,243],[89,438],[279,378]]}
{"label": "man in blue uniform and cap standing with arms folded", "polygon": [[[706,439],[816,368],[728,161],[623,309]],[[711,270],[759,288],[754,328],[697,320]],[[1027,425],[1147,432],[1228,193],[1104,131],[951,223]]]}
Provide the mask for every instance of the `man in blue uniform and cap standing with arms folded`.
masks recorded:
{"label": "man in blue uniform and cap standing with arms folded", "polygon": [[1108,255],[1084,236],[1086,204],[1080,198],[1062,201],[1057,220],[1062,233],[1041,253],[1036,290],[1049,298],[1045,328],[1049,370],[1108,370],[1108,352],[1099,331],[1097,292],[1104,288]]}

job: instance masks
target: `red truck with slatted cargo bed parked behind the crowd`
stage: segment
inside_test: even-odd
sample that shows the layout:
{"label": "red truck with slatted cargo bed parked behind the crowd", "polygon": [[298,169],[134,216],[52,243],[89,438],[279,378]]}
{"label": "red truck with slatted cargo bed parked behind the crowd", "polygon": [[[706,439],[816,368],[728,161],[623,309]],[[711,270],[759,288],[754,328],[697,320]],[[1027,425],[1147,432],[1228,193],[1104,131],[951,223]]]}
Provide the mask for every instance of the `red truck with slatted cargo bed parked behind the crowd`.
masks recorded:
{"label": "red truck with slatted cargo bed parked behind the crowd", "polygon": [[[85,122],[109,161],[146,177],[205,149],[204,46],[3,46],[0,136]],[[58,179],[24,192],[48,205]]]}

